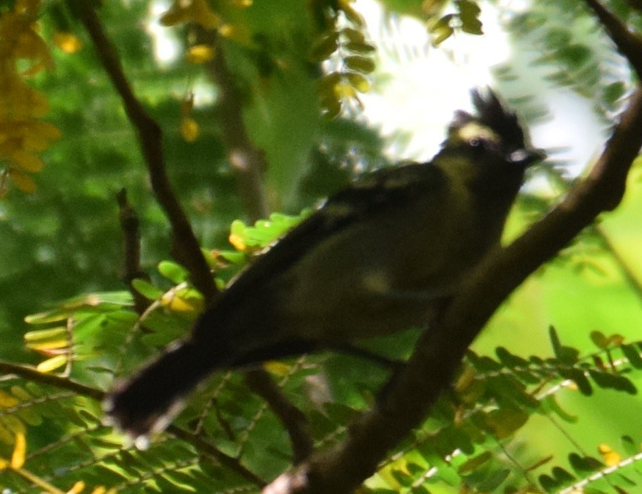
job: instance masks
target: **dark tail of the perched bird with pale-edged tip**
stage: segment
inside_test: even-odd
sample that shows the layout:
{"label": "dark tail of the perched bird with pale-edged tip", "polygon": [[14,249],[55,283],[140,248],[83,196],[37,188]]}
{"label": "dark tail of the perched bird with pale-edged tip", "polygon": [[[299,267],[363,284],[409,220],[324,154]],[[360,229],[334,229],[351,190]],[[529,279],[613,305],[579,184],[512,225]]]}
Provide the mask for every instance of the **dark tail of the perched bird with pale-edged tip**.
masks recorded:
{"label": "dark tail of the perched bird with pale-edged tip", "polygon": [[171,347],[106,397],[106,423],[127,433],[138,447],[145,447],[147,434],[169,425],[182,410],[185,397],[217,360],[211,347],[206,351],[192,340]]}

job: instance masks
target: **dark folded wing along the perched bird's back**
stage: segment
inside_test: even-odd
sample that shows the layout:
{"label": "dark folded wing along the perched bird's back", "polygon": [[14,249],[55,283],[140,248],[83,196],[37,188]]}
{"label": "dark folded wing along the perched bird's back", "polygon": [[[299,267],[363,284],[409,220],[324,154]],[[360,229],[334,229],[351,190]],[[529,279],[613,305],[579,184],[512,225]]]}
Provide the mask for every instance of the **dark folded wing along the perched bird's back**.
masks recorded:
{"label": "dark folded wing along the perched bird's back", "polygon": [[248,288],[283,273],[326,238],[380,212],[408,206],[420,197],[442,190],[445,180],[443,172],[431,163],[406,164],[365,175],[330,197],[323,207],[259,256],[230,284],[219,301],[230,302],[246,295]]}

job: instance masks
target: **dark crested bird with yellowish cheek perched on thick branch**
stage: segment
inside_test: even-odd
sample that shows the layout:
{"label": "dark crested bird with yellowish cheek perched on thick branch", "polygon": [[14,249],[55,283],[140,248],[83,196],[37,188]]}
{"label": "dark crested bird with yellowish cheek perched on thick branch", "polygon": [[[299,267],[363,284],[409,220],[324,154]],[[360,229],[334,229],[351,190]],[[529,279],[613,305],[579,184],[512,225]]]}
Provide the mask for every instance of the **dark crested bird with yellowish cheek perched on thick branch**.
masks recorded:
{"label": "dark crested bird with yellowish cheek perched on thick branch", "polygon": [[159,432],[212,371],[425,325],[499,244],[527,166],[543,158],[491,90],[471,92],[441,151],[365,175],[233,280],[105,408],[136,439]]}

